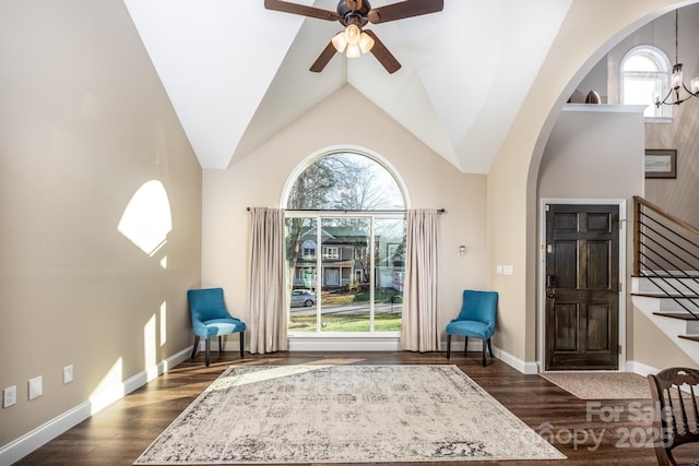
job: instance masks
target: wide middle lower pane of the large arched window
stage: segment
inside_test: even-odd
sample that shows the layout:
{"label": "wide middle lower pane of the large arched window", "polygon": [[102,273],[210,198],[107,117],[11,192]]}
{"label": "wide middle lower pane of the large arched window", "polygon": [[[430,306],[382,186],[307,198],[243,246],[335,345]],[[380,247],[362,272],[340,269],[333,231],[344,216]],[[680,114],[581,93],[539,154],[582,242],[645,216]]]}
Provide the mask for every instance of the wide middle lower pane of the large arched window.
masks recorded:
{"label": "wide middle lower pane of the large arched window", "polygon": [[321,332],[369,332],[370,223],[368,218],[323,218]]}

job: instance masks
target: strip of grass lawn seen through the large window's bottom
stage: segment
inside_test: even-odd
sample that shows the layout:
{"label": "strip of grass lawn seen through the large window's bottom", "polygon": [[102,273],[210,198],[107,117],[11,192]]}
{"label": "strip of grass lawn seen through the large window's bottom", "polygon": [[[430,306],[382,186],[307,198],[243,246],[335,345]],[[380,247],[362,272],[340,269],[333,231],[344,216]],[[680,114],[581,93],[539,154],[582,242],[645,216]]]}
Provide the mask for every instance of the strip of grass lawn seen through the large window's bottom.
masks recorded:
{"label": "strip of grass lawn seen through the large window's bottom", "polygon": [[[375,332],[400,332],[401,314],[379,314],[374,316]],[[289,332],[316,332],[315,315],[292,316]],[[368,315],[323,315],[322,332],[369,332]]]}

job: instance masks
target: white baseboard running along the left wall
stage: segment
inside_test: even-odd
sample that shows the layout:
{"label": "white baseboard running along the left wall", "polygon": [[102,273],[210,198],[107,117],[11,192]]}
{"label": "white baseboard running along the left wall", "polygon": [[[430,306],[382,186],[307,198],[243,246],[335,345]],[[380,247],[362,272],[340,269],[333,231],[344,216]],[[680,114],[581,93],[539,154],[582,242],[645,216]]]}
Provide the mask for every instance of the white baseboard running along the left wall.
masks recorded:
{"label": "white baseboard running along the left wall", "polygon": [[167,372],[169,369],[188,359],[191,350],[192,348],[189,347],[174,356],[170,356],[164,361],[161,361],[154,367],[133,375],[122,383],[99,392],[90,401],[81,403],[48,422],[43,423],[31,432],[13,440],[7,445],[0,446],[0,466],[9,466],[22,459],[61,433],[78,426],[92,415],[109,406],[111,403],[123,398],[129,393],[145,385],[150,380]]}

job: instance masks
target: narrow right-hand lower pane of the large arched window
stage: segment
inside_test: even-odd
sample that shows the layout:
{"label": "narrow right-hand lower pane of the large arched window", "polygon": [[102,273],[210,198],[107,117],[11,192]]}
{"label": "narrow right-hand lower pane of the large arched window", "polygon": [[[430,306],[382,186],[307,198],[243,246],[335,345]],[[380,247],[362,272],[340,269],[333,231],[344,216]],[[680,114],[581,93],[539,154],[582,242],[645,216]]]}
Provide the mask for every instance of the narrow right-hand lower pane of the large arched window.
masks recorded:
{"label": "narrow right-hand lower pane of the large arched window", "polygon": [[375,332],[400,332],[405,276],[405,220],[375,222]]}

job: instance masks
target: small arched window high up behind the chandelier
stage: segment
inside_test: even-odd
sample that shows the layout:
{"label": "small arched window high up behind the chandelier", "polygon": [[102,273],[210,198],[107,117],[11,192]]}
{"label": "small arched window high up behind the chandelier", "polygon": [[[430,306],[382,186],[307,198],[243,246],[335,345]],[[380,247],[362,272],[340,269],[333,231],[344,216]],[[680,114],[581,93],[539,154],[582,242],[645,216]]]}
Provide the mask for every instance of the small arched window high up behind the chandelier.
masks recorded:
{"label": "small arched window high up behind the chandelier", "polygon": [[670,91],[672,65],[667,56],[653,46],[638,46],[621,61],[621,104],[647,105],[645,118],[672,118],[672,106],[655,106]]}

